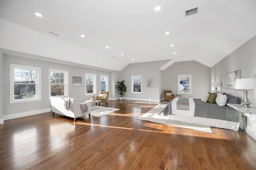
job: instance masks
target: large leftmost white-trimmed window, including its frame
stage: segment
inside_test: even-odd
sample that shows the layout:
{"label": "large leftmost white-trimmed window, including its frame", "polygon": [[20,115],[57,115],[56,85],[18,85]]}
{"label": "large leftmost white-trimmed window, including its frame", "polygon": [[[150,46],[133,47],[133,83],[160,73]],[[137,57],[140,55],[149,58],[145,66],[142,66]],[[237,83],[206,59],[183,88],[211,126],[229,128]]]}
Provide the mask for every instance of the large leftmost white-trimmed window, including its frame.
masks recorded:
{"label": "large leftmost white-trimmed window, including its frame", "polygon": [[41,67],[10,64],[10,103],[41,100]]}

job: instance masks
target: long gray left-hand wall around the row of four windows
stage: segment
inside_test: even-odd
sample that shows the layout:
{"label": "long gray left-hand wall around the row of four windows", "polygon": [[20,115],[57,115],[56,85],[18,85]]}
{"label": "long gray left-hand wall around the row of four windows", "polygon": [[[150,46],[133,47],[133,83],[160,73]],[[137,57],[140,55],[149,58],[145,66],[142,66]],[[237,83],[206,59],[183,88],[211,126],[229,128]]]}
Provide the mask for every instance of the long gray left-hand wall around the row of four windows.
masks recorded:
{"label": "long gray left-hand wall around the row of four windows", "polygon": [[[10,63],[22,64],[42,67],[42,100],[36,102],[24,102],[10,104]],[[50,108],[49,100],[49,68],[56,68],[69,71],[69,96],[76,98],[78,102],[84,102],[90,100],[91,96],[85,96],[85,73],[97,74],[97,94],[100,91],[100,74],[108,75],[110,78],[110,72],[95,70],[91,68],[82,68],[78,66],[71,66],[66,64],[52,63],[48,61],[41,61],[36,59],[28,59],[24,57],[17,57],[12,55],[3,55],[3,115],[10,115],[15,113],[22,113],[27,111],[34,111],[39,109]],[[82,86],[72,86],[72,76],[82,77]],[[109,81],[109,87],[111,81]],[[2,95],[1,95],[2,96]],[[111,96],[110,96],[111,97]]]}

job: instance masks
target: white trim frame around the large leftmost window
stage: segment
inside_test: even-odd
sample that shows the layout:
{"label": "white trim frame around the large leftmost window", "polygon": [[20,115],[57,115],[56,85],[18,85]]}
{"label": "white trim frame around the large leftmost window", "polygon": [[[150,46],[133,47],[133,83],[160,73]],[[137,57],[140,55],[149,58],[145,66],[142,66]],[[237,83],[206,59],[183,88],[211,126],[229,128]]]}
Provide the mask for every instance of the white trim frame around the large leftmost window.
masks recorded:
{"label": "white trim frame around the large leftmost window", "polygon": [[[16,99],[14,100],[14,68],[36,70],[36,98]],[[27,66],[20,64],[10,64],[10,104],[22,102],[35,102],[42,100],[42,86],[41,86],[41,67]]]}

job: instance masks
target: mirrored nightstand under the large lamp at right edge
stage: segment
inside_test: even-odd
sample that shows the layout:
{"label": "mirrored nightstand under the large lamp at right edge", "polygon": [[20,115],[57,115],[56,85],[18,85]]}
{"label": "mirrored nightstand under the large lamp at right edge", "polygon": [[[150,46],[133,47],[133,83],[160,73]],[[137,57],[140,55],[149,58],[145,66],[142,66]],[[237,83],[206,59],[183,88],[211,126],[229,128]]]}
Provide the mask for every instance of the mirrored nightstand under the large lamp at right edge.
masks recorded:
{"label": "mirrored nightstand under the large lamp at right edge", "polygon": [[240,122],[239,127],[245,135],[245,151],[256,153],[256,140],[246,133],[250,129],[255,133],[256,108],[243,108],[240,104],[227,104],[226,116],[227,121]]}

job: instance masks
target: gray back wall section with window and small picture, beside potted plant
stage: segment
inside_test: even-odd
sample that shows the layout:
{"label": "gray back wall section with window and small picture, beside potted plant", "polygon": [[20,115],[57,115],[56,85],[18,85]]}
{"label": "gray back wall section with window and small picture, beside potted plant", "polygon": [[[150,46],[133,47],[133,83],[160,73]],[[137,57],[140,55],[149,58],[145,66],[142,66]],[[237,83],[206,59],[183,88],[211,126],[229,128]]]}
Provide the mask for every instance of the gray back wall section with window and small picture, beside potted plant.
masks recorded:
{"label": "gray back wall section with window and small picture, beside potted plant", "polygon": [[[128,64],[120,73],[120,80],[125,80],[127,92],[125,98],[136,98],[146,100],[159,100],[160,94],[160,67],[170,60],[152,61],[145,63]],[[142,94],[131,93],[131,76],[142,75]],[[146,88],[146,78],[154,78],[154,87]]]}

